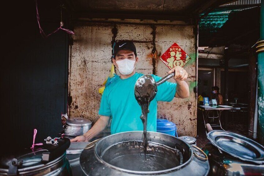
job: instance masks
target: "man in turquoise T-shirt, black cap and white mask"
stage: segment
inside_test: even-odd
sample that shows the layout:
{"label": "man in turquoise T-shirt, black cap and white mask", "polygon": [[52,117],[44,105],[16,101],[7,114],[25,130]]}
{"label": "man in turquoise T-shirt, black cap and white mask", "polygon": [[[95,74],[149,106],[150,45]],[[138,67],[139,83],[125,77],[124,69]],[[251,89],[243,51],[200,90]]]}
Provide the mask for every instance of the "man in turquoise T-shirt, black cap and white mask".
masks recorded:
{"label": "man in turquoise T-shirt, black cap and white mask", "polygon": [[[125,131],[143,131],[140,119],[141,108],[134,96],[134,85],[137,79],[144,74],[135,71],[139,61],[136,47],[131,41],[120,41],[114,47],[113,64],[120,76],[109,84],[102,95],[99,109],[100,118],[93,127],[82,136],[72,139],[75,141],[89,141],[97,136],[107,126],[110,117],[111,134]],[[156,131],[157,102],[170,102],[174,97],[189,97],[189,86],[185,82],[188,74],[182,67],[174,67],[168,73],[175,72],[176,83],[165,82],[158,86],[156,97],[149,104],[147,130]],[[157,82],[160,77],[152,75]]]}

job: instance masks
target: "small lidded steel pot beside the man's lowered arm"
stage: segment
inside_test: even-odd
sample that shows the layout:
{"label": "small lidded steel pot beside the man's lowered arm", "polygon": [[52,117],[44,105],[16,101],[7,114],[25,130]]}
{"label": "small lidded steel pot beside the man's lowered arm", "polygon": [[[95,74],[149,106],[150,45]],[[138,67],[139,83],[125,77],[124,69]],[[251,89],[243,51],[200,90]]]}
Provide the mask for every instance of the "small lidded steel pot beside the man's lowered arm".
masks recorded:
{"label": "small lidded steel pot beside the man's lowered arm", "polygon": [[66,136],[81,136],[90,130],[92,121],[84,118],[69,118],[64,125],[64,134]]}

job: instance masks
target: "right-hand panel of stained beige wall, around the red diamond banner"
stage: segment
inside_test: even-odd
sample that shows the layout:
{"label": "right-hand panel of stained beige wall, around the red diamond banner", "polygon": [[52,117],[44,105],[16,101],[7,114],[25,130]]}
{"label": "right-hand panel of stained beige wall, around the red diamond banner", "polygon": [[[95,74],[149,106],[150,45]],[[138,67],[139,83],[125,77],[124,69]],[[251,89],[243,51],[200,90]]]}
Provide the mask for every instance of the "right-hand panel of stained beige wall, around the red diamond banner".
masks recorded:
{"label": "right-hand panel of stained beige wall, around the red diamond banner", "polygon": [[[190,97],[174,98],[172,102],[158,103],[158,118],[165,117],[177,125],[179,136],[196,136],[197,101],[193,87],[196,86],[196,42],[194,26],[157,26],[156,47],[162,54],[176,42],[190,55],[191,60],[184,66],[189,74],[187,83],[190,87]],[[160,60],[156,62],[158,76],[165,76],[169,69]],[[169,81],[174,82],[173,79]]]}

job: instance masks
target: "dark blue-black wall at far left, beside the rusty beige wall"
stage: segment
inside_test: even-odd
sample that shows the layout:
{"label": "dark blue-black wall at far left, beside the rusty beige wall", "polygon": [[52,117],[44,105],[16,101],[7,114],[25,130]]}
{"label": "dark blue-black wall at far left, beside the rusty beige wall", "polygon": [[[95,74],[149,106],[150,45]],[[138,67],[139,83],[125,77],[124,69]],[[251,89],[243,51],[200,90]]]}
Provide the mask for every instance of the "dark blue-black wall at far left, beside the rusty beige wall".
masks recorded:
{"label": "dark blue-black wall at far left, beside the rusty beige wall", "polygon": [[[5,31],[1,33],[1,125],[7,129],[1,134],[2,142],[9,146],[5,151],[31,147],[34,128],[38,130],[36,142],[55,137],[62,131],[61,112],[66,111],[68,35],[59,31],[42,38],[35,1],[21,3],[16,5],[19,9],[5,14]],[[58,6],[50,4],[54,3],[39,3],[46,33],[55,30],[60,21]],[[12,7],[9,5],[5,7]],[[17,19],[12,19],[11,13]]]}

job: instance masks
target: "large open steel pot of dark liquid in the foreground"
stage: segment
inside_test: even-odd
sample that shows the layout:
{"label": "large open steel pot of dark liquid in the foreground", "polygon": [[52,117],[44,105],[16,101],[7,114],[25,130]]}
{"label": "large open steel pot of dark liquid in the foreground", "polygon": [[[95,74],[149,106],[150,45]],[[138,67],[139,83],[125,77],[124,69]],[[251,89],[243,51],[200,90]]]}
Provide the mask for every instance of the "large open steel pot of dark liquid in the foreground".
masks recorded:
{"label": "large open steel pot of dark liquid in the foreground", "polygon": [[[117,133],[88,144],[80,156],[83,172],[86,175],[208,174],[207,155],[196,146],[163,133],[148,132],[148,136],[146,156],[142,131]],[[145,163],[143,167],[142,163]]]}

